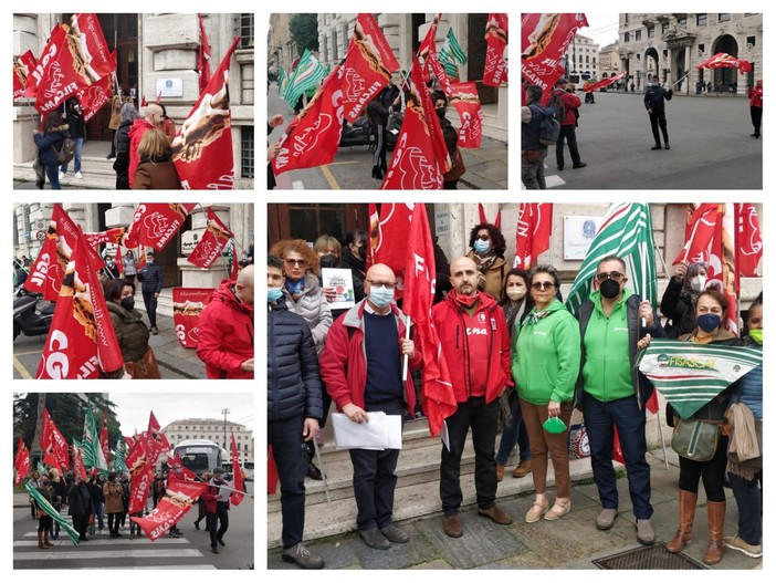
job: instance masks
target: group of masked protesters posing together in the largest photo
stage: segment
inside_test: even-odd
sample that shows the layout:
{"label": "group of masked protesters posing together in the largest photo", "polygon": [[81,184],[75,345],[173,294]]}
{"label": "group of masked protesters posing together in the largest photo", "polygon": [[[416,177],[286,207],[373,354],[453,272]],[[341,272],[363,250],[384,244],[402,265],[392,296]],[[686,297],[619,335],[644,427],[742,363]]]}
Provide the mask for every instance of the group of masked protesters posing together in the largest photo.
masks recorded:
{"label": "group of masked protesters posing together in the largest photo", "polygon": [[[302,540],[305,472],[311,478],[319,477],[321,468],[311,475],[312,456],[301,454],[305,451],[300,450],[301,446],[319,436],[332,400],[337,410],[357,424],[368,421],[375,412],[411,418],[418,393],[413,379],[402,377],[401,361],[406,358],[411,371],[428,362],[421,354],[417,331],[407,333],[407,319],[395,300],[396,273],[380,263],[366,270],[366,233],[354,231],[344,246],[331,236],[319,238],[312,249],[301,240],[280,241],[268,257],[268,443],[281,483],[282,558],[302,569],[322,569],[325,561]],[[562,303],[558,270],[548,264],[527,272],[510,269],[504,237],[494,225],[476,225],[470,232],[469,247],[466,256],[453,259],[445,273],[438,269],[437,283],[442,291],[431,308],[441,351],[448,363],[455,363],[449,367],[455,405],[445,415],[449,445],[442,446],[440,459],[442,531],[451,538],[464,534],[458,518],[463,500],[460,466],[470,428],[479,516],[496,524],[512,523],[512,517],[496,506],[495,499],[497,482],[518,444],[520,462],[513,476],[532,473],[535,490],[525,522],[556,521],[568,514],[568,433],[576,408],[584,414],[593,477],[601,502],[596,528],[611,529],[618,516],[612,462],[617,433],[628,471],[636,539],[643,545],[653,544],[646,404],[654,388],[636,364],[652,339],[667,337],[657,310],[626,287],[626,261],[618,256],[597,262],[593,291],[573,314]],[[332,313],[328,303],[334,290],[322,287],[322,266],[353,270],[354,308]],[[717,288],[706,285],[705,278],[695,281],[696,271],[680,270],[680,288],[685,272],[692,273],[686,278],[692,283],[679,294],[671,289],[686,302],[682,305],[693,314],[691,324],[680,331],[675,302],[665,299],[665,305],[661,305],[663,314],[675,324],[675,335],[670,335],[695,344],[741,345],[742,340],[724,327],[726,313],[734,306]],[[762,351],[762,293],[748,311],[747,324],[743,342]],[[423,387],[426,391],[431,389]],[[727,405],[734,402],[746,404],[754,420],[762,423],[762,364],[690,420],[721,423]],[[503,408],[511,413],[496,457]],[[674,415],[679,420],[670,405],[668,412],[671,421]],[[745,447],[741,444],[746,441],[747,428],[735,427],[735,434],[742,434],[738,447]],[[691,538],[698,487],[703,478],[710,532],[703,561],[719,563],[724,546],[762,556],[762,469],[728,462],[726,446],[727,437],[721,438],[711,460],[680,455],[680,528],[667,546],[670,552],[681,551]],[[392,520],[400,451],[349,452],[359,535],[378,550],[407,543],[409,534]],[[552,503],[547,492],[548,458],[555,473]],[[730,473],[740,511],[738,531],[733,537],[723,537],[725,472]]]}

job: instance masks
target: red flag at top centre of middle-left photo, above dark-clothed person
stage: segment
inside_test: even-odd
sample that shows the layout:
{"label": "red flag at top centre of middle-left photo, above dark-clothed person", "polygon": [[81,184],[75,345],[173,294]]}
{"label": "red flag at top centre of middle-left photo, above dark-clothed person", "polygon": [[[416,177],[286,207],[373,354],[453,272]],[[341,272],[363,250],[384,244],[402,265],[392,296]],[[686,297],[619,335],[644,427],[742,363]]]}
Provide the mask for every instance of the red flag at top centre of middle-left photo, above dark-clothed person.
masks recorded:
{"label": "red flag at top centre of middle-left photo, above dark-clothed person", "polygon": [[[126,247],[146,246],[161,251],[180,230],[186,217],[196,206],[196,204],[186,202],[138,205],[127,232]],[[137,270],[140,270],[139,264]]]}

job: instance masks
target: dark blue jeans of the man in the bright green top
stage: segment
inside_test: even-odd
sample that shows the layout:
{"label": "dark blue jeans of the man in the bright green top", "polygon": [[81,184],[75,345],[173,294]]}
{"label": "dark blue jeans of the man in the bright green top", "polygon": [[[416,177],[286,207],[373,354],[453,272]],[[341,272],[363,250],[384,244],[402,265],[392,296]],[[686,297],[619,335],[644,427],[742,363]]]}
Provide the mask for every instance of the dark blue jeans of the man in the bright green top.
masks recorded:
{"label": "dark blue jeans of the man in the bright green top", "polygon": [[598,497],[606,509],[617,509],[617,477],[611,464],[615,428],[620,438],[622,457],[628,470],[628,489],[637,519],[652,517],[651,486],[647,462],[647,410],[639,409],[636,395],[602,403],[585,393],[583,397],[585,428],[590,440],[590,466],[598,487]]}

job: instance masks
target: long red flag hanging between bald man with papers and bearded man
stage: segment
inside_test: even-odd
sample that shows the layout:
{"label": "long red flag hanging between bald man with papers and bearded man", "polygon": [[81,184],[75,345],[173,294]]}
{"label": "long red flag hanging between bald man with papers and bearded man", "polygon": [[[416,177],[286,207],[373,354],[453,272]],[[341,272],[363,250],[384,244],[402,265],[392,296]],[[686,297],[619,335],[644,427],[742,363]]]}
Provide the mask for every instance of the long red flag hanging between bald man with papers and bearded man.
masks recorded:
{"label": "long red flag hanging between bald man with papers and bearded man", "polygon": [[412,223],[402,241],[406,244],[398,246],[406,257],[402,310],[416,325],[416,337],[423,355],[423,413],[429,421],[429,431],[437,437],[442,421],[455,413],[458,404],[442,345],[431,319],[431,304],[437,288],[437,266],[424,205],[415,205]]}

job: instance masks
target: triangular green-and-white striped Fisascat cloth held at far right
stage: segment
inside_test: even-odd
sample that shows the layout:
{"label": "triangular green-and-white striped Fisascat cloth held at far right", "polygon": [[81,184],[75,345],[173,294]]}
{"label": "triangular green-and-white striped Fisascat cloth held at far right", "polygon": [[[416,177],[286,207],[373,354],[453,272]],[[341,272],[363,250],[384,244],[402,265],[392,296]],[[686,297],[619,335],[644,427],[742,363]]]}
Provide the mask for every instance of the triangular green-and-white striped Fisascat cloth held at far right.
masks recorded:
{"label": "triangular green-and-white striped Fisascat cloth held at far right", "polygon": [[652,339],[637,361],[682,419],[762,364],[763,352],[755,348],[660,339]]}

